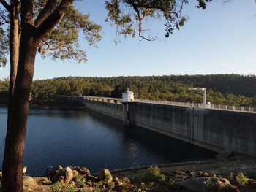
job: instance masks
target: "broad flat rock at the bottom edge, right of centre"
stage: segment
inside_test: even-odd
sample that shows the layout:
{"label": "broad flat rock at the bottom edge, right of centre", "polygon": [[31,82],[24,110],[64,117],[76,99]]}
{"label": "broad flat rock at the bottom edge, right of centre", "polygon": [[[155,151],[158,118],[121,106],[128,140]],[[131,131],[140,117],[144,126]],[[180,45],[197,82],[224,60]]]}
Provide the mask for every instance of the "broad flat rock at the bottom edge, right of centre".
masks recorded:
{"label": "broad flat rock at the bottom edge, right of centre", "polygon": [[179,182],[182,188],[196,192],[237,192],[225,178],[197,177]]}

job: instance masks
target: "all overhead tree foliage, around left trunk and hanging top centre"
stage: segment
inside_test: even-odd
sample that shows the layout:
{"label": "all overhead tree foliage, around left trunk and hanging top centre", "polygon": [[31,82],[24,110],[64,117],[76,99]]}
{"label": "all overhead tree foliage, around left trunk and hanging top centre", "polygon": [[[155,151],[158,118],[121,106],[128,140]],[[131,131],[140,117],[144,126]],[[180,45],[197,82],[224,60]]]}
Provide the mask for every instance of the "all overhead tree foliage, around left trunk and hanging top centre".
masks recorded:
{"label": "all overhead tree foliage, around left trunk and hanging top centre", "polygon": [[[211,0],[197,1],[197,7],[205,9],[206,3]],[[39,23],[37,16],[47,2],[48,0],[34,1],[34,26]],[[59,1],[53,0],[53,3],[56,2]],[[182,9],[184,4],[188,3],[189,0],[107,0],[105,1],[108,10],[106,20],[116,27],[116,43],[120,41],[120,35],[135,37],[136,31],[141,39],[153,41],[156,37],[152,37],[150,31],[143,26],[143,21],[148,18],[165,18],[165,37],[169,37],[173,30],[179,30],[187,21],[188,17],[182,14]],[[10,28],[8,18],[7,11],[0,7],[0,66],[5,66],[7,63],[9,45],[7,31]],[[80,47],[80,32],[83,32],[83,37],[90,46],[97,47],[97,42],[102,39],[101,30],[101,26],[89,20],[89,13],[83,14],[73,5],[61,22],[39,43],[38,52],[41,53],[42,58],[50,56],[53,60],[86,61],[86,51]]]}

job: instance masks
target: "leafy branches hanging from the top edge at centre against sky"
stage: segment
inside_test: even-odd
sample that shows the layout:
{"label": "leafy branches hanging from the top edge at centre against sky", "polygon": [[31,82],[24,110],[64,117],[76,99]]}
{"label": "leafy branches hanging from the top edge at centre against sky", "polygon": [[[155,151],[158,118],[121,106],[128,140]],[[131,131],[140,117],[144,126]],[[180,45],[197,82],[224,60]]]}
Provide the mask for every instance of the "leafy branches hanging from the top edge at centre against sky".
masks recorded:
{"label": "leafy branches hanging from the top edge at centre against sky", "polygon": [[153,41],[156,37],[146,34],[143,21],[148,18],[165,18],[165,37],[170,37],[173,30],[179,30],[187,21],[187,17],[181,14],[184,4],[188,0],[110,0],[106,1],[108,20],[116,26],[117,35],[130,35],[135,37],[138,31],[139,37]]}

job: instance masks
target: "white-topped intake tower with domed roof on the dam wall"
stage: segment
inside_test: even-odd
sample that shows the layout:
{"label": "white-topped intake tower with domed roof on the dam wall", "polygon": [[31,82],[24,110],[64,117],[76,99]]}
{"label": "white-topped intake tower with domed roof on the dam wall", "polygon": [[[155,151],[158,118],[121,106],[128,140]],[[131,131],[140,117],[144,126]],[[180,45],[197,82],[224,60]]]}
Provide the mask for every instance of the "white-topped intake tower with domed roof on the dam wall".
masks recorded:
{"label": "white-topped intake tower with domed roof on the dam wall", "polygon": [[127,90],[122,93],[124,125],[129,125],[130,123],[132,123],[131,115],[129,115],[129,102],[133,101],[135,101],[134,93],[132,91],[129,91],[129,88],[127,88]]}

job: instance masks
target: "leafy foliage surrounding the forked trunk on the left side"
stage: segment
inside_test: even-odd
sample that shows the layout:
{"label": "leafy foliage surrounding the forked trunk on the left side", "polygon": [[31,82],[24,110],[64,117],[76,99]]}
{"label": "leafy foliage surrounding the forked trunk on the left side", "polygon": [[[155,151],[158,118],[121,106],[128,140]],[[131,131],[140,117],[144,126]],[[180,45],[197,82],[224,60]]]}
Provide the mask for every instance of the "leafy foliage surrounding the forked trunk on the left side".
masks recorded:
{"label": "leafy foliage surrounding the forked trunk on the left side", "polygon": [[[46,3],[47,0],[34,1],[34,26],[37,26],[36,18]],[[0,7],[0,66],[5,66],[7,63],[9,28],[9,15],[5,9]],[[80,47],[79,35],[83,33],[89,45],[97,47],[97,42],[102,38],[101,30],[101,26],[89,19],[89,14],[83,14],[75,9],[75,6],[71,6],[61,22],[39,43],[38,53],[41,53],[42,58],[50,56],[53,60],[86,61],[86,51]]]}

